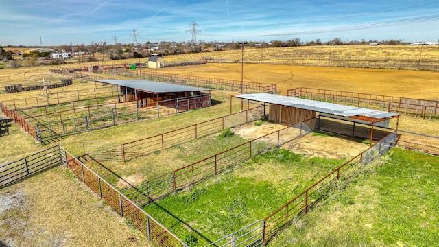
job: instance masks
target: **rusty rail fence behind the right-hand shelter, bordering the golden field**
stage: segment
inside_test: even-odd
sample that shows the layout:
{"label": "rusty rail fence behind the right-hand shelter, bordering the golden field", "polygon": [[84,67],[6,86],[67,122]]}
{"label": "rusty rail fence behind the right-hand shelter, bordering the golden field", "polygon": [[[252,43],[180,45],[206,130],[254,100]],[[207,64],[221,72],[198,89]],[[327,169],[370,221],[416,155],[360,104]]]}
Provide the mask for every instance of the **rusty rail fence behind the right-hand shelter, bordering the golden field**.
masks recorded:
{"label": "rusty rail fence behind the right-hand shelter, bordering the golden field", "polygon": [[439,116],[439,100],[411,99],[386,95],[372,95],[368,93],[356,93],[348,91],[335,91],[328,89],[313,89],[300,87],[289,89],[287,96],[306,97],[324,102],[347,104],[351,106],[363,106],[366,108],[378,108],[397,113],[410,114],[415,117]]}

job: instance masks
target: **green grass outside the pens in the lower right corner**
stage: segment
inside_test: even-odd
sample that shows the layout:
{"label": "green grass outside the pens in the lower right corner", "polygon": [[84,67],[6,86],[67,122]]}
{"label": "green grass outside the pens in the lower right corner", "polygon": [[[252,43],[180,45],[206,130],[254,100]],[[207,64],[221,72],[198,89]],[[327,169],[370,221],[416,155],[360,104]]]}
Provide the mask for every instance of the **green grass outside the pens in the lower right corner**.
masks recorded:
{"label": "green grass outside the pens in the lower right corner", "polygon": [[268,246],[437,246],[439,159],[394,148]]}

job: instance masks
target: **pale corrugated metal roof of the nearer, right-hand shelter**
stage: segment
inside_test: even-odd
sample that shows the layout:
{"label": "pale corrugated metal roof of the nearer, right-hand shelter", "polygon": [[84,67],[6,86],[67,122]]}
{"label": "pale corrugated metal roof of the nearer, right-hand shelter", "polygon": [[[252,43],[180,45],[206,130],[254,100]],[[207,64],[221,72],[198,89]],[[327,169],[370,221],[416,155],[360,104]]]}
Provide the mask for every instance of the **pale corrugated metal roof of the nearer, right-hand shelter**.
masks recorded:
{"label": "pale corrugated metal roof of the nearer, right-hand shelter", "polygon": [[388,113],[381,110],[371,110],[355,106],[344,106],[341,104],[319,102],[311,99],[300,99],[296,97],[287,97],[270,93],[250,93],[238,95],[235,97],[240,99],[249,99],[257,102],[278,104],[281,106],[291,106],[305,110],[314,110],[319,113],[328,113],[343,117],[353,117],[361,115],[366,117],[373,117],[375,119],[385,119],[388,117],[395,117],[399,115],[398,113]]}

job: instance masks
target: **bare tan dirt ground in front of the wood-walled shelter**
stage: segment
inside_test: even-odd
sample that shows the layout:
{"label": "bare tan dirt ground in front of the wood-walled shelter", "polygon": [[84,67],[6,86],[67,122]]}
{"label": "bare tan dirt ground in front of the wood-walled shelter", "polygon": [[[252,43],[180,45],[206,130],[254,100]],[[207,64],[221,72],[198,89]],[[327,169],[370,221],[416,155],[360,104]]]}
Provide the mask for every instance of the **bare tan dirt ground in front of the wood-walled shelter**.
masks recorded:
{"label": "bare tan dirt ground in front of the wood-walled shelter", "polygon": [[[266,134],[282,130],[285,127],[286,126],[283,124],[264,122],[261,126],[246,124],[237,128],[232,128],[231,130],[235,134],[239,134],[246,139],[256,139],[258,137],[263,137]],[[285,143],[285,141],[294,139],[294,137],[298,137],[299,135],[300,129],[289,128],[288,130],[282,131],[280,135],[271,134],[263,137],[261,138],[261,141],[276,144],[278,137],[280,137],[281,143]],[[351,139],[309,133],[304,137],[300,137],[281,145],[281,148],[311,157],[349,159],[366,150],[368,145],[358,143]]]}

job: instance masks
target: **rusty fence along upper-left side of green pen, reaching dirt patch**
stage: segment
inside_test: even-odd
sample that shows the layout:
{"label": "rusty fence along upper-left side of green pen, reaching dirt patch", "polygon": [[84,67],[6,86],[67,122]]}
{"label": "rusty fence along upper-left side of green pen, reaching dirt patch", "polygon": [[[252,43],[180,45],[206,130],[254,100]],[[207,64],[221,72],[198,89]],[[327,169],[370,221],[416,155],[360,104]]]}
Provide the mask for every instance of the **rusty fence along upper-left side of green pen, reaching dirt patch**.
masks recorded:
{"label": "rusty fence along upper-left side of green pen, reaching dirt patch", "polygon": [[311,129],[303,123],[285,127],[204,158],[201,161],[180,167],[169,174],[164,174],[139,185],[127,187],[122,191],[131,200],[146,205],[185,186],[198,183],[210,176],[221,174],[228,167],[249,161],[252,156],[277,148],[289,141],[294,141],[310,132]]}

